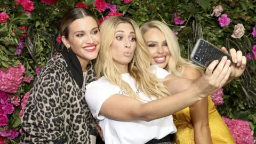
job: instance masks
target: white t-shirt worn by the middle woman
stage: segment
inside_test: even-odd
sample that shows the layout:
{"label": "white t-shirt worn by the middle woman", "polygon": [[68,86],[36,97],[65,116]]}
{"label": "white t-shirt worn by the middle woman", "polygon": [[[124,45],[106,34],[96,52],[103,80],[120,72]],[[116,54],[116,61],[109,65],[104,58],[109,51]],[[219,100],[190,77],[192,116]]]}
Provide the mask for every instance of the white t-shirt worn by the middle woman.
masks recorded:
{"label": "white t-shirt worn by the middle woman", "polygon": [[[151,68],[153,68],[153,73],[155,73],[158,78],[163,79],[170,74],[168,71],[155,65],[151,66]],[[134,92],[137,91],[135,81],[130,74],[122,74],[122,79],[132,87]],[[167,134],[177,131],[173,124],[172,115],[150,122],[123,122],[99,114],[102,103],[114,94],[122,94],[122,91],[118,86],[111,84],[105,77],[101,77],[86,86],[85,99],[93,117],[100,120],[105,143],[144,144],[151,139],[162,139]],[[151,101],[143,92],[138,92],[138,95],[142,100]],[[125,97],[127,96],[125,95]]]}

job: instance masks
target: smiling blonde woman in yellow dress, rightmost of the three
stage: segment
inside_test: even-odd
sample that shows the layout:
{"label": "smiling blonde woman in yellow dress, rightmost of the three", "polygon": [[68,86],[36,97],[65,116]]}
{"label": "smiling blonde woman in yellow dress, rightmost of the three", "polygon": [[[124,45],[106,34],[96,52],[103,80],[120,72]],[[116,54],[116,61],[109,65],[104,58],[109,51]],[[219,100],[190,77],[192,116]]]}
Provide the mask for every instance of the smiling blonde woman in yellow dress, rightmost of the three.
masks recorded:
{"label": "smiling blonde woman in yellow dress, rightmost of the three", "polygon": [[[140,29],[149,50],[151,65],[158,65],[171,74],[188,79],[204,74],[203,68],[181,57],[177,37],[163,22],[149,21]],[[237,53],[242,55],[240,51]],[[173,121],[177,127],[175,143],[235,143],[210,96],[173,114]]]}

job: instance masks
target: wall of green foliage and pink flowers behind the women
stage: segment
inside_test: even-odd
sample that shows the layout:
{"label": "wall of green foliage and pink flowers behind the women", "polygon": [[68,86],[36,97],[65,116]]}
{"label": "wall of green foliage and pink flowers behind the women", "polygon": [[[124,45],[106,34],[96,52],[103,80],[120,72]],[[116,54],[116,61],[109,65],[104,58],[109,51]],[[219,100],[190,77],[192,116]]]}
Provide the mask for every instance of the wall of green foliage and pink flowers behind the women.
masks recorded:
{"label": "wall of green foliage and pink flowers behind the women", "polygon": [[255,142],[255,0],[1,0],[0,144],[19,142],[29,89],[46,61],[62,50],[59,22],[74,6],[92,10],[99,23],[113,15],[139,26],[161,20],[177,35],[185,58],[198,38],[241,50],[247,56],[245,73],[211,97],[236,142]]}

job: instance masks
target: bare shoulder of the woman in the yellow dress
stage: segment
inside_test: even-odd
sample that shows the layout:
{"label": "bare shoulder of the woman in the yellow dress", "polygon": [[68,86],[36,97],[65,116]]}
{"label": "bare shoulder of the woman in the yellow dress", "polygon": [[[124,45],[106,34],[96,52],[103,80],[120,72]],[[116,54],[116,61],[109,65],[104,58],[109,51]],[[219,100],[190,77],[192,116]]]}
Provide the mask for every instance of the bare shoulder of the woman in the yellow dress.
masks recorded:
{"label": "bare shoulder of the woman in the yellow dress", "polygon": [[188,79],[196,79],[202,75],[200,71],[197,70],[196,68],[184,66],[182,76]]}

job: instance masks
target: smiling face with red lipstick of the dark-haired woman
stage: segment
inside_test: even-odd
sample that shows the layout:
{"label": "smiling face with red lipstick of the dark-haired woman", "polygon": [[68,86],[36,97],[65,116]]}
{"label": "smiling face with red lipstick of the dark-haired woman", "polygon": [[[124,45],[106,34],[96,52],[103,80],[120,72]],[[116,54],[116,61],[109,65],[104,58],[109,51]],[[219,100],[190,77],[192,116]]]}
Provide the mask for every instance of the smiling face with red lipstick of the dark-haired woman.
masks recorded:
{"label": "smiling face with red lipstick of the dark-haired woman", "polygon": [[73,21],[69,27],[68,38],[62,36],[62,41],[77,55],[78,60],[89,61],[97,58],[100,46],[98,23],[87,16]]}

